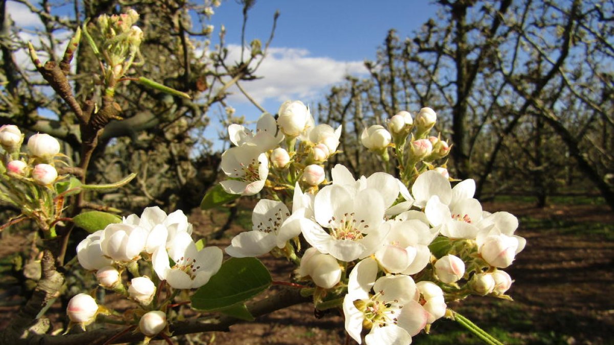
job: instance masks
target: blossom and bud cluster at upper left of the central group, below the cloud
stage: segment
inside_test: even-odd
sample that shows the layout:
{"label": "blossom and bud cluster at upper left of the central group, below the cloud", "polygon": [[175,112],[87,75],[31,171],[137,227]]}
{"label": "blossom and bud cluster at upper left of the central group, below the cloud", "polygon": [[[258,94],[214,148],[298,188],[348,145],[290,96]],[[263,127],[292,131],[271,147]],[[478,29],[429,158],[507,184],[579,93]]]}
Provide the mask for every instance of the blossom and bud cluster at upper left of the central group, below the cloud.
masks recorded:
{"label": "blossom and bud cluster at upper left of the central group, below the cloud", "polygon": [[286,101],[278,118],[265,113],[255,133],[243,125],[228,126],[233,147],[222,154],[221,182],[227,193],[254,195],[268,187],[272,193],[324,184],[325,162],[335,155],[341,126],[315,125],[309,108],[301,101]]}

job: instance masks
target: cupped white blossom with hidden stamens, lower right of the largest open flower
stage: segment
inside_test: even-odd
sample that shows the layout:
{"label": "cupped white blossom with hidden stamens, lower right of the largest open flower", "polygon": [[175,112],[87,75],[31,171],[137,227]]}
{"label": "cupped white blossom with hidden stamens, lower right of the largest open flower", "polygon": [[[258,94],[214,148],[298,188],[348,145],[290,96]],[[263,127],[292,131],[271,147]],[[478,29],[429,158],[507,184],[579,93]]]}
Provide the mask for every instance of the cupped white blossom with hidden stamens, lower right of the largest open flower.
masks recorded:
{"label": "cupped white blossom with hidden stamens, lower right of the largest open flower", "polygon": [[416,274],[429,263],[429,244],[433,234],[419,220],[387,221],[381,227],[386,233],[375,258],[390,273]]}

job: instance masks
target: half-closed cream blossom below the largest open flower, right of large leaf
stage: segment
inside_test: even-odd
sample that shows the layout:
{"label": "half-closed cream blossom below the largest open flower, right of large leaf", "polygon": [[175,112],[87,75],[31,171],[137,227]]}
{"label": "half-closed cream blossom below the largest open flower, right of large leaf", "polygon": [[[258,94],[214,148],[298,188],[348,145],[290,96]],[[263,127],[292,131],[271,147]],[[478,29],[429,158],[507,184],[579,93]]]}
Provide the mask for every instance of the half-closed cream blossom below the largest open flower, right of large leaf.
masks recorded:
{"label": "half-closed cream blossom below the largest open flower, right of large leaf", "polygon": [[305,251],[298,269],[301,277],[310,276],[317,286],[330,289],[341,281],[341,266],[329,254],[311,247]]}

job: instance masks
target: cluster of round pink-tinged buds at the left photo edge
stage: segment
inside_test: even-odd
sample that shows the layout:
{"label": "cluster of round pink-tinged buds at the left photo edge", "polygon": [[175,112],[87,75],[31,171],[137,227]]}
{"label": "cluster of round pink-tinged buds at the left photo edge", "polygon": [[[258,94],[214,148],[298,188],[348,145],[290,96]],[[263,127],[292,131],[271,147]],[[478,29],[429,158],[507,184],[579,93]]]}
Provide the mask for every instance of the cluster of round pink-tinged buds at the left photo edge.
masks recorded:
{"label": "cluster of round pink-tinged buds at the left photo edge", "polygon": [[[37,133],[28,138],[27,149],[21,152],[24,134],[15,125],[0,127],[2,157],[0,184],[5,200],[21,209],[23,215],[41,226],[45,233],[52,233],[52,224],[60,215],[61,205],[56,204],[58,195],[56,165],[66,164],[58,158],[60,142],[49,134]],[[59,206],[59,207],[58,207]]]}

